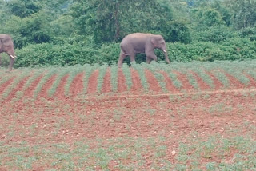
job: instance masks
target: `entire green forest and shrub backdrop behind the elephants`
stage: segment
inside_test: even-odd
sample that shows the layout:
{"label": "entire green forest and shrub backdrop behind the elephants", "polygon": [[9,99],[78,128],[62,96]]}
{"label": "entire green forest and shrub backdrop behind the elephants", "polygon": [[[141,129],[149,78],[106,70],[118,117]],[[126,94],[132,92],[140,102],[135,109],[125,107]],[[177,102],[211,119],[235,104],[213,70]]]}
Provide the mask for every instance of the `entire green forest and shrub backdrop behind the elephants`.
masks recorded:
{"label": "entire green forest and shrub backdrop behind the elephants", "polygon": [[16,67],[111,65],[134,32],[162,34],[171,61],[247,60],[256,58],[255,22],[256,0],[0,0]]}

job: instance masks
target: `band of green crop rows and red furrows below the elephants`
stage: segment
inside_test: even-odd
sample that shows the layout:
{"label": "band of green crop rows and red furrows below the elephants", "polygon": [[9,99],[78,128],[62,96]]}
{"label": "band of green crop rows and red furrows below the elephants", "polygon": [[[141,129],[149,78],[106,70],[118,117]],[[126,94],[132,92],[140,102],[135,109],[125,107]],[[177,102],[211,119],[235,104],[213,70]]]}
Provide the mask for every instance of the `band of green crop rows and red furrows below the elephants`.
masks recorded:
{"label": "band of green crop rows and red furrows below the elephants", "polygon": [[[124,64],[121,69],[118,66],[107,65],[85,65],[50,67],[41,69],[18,69],[7,74],[0,70],[0,94],[1,101],[11,98],[16,100],[25,93],[32,91],[33,98],[38,96],[54,97],[60,85],[62,96],[73,95],[71,90],[80,94],[106,93],[102,91],[103,86],[110,86],[109,93],[123,91],[142,92],[157,91],[158,93],[176,91],[198,91],[216,89],[243,89],[256,85],[256,61],[248,62],[172,62],[171,65],[152,62],[151,64],[132,64],[130,67]],[[108,74],[106,74],[108,72]],[[122,75],[121,75],[122,73]],[[78,74],[80,77],[78,77]],[[104,85],[106,77],[109,84]],[[118,82],[124,77],[125,82]],[[119,86],[126,87],[118,89]],[[89,89],[93,89],[90,90]],[[74,91],[72,91],[74,92]],[[42,94],[43,93],[43,94]]]}

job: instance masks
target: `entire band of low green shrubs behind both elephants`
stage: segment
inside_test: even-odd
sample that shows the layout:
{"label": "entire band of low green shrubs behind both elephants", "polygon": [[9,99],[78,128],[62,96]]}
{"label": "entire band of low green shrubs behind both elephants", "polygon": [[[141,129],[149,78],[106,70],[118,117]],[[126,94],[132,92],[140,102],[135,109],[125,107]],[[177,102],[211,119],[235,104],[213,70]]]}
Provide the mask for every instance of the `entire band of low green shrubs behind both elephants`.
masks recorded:
{"label": "entire band of low green shrubs behind both elephants", "polygon": [[[256,41],[250,41],[249,38],[229,38],[218,44],[214,42],[192,42],[190,44],[175,42],[166,43],[166,46],[170,61],[176,62],[256,58]],[[158,62],[165,60],[162,50],[154,50],[154,52],[158,57]],[[107,43],[98,48],[75,43],[62,45],[42,43],[16,50],[18,58],[14,66],[74,66],[94,63],[111,65],[118,62],[119,53],[119,43]],[[130,58],[125,58],[124,62],[130,65]],[[136,62],[146,62],[146,55],[137,54]]]}

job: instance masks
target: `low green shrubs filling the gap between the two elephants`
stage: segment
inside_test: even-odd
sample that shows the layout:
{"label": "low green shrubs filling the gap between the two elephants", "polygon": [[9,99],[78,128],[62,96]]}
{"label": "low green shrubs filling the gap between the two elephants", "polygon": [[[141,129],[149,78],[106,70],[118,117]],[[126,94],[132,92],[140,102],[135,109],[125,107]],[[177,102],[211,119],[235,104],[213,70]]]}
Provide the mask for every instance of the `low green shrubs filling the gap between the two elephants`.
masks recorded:
{"label": "low green shrubs filling the gap between the two elephants", "polygon": [[90,46],[64,44],[62,46],[50,43],[30,45],[17,50],[15,66],[74,66],[76,64],[111,64],[118,61],[119,46],[116,43],[102,45],[100,49]]}

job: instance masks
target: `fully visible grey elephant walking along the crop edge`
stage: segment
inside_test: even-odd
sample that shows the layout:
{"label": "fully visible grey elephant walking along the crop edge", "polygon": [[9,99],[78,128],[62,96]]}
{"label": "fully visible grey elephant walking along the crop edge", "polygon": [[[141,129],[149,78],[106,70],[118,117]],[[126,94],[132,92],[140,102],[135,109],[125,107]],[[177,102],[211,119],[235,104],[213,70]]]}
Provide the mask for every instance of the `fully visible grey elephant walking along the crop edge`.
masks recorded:
{"label": "fully visible grey elephant walking along the crop edge", "polygon": [[157,61],[157,56],[154,54],[154,49],[160,49],[165,53],[166,62],[170,63],[166,50],[166,42],[159,34],[143,34],[134,33],[128,34],[122,39],[120,44],[121,52],[118,60],[118,66],[122,66],[123,59],[130,56],[130,61],[135,61],[135,54],[145,53],[146,62],[152,60]]}

